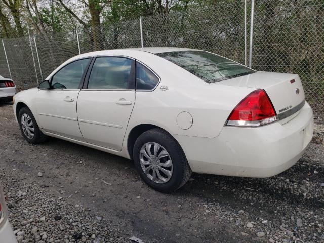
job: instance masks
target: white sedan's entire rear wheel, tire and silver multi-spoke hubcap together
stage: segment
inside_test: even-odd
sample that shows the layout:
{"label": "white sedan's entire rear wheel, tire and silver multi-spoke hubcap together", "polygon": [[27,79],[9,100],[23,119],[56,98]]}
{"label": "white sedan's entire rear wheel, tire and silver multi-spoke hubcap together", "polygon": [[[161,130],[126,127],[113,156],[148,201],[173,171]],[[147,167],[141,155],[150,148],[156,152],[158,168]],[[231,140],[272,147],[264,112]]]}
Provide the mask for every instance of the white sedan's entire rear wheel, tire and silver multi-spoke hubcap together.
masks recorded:
{"label": "white sedan's entire rear wheel, tire and silver multi-spoke hubcap together", "polygon": [[162,129],[154,128],[141,134],[135,142],[133,155],[142,179],[158,191],[175,191],[191,176],[182,148]]}

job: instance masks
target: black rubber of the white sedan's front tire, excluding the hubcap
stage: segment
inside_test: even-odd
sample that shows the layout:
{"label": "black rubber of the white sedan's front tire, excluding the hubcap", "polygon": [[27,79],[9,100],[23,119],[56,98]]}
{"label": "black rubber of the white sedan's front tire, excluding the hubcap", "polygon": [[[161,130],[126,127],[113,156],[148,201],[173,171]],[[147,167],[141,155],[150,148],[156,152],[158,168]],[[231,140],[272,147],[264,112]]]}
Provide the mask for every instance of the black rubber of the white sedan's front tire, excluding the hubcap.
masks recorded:
{"label": "black rubber of the white sedan's front tire, excluding the hubcap", "polygon": [[[23,129],[22,129],[22,124],[21,124],[21,118],[22,118],[22,115],[23,114],[27,114],[31,120],[32,120],[32,123],[33,123],[33,127],[34,127],[34,136],[32,138],[28,138],[25,133],[23,132]],[[24,138],[26,139],[26,141],[28,143],[31,143],[31,144],[37,144],[37,143],[42,143],[44,142],[48,137],[46,135],[44,135],[42,133],[42,131],[39,129],[37,123],[36,123],[36,120],[35,120],[35,117],[33,116],[33,114],[31,113],[31,111],[27,108],[27,107],[22,107],[20,110],[19,110],[19,114],[18,114],[18,122],[19,122],[19,127],[20,127],[20,131],[22,133],[22,135],[24,136]]]}

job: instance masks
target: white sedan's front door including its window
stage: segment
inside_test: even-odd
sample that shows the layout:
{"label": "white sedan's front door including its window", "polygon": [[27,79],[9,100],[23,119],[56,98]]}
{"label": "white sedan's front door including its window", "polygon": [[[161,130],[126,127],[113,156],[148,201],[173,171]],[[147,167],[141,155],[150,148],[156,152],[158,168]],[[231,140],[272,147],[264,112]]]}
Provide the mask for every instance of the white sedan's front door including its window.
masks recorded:
{"label": "white sedan's front door including its window", "polygon": [[39,125],[46,131],[85,141],[79,129],[76,113],[77,97],[90,58],[73,61],[50,80],[50,89],[39,89],[36,99]]}

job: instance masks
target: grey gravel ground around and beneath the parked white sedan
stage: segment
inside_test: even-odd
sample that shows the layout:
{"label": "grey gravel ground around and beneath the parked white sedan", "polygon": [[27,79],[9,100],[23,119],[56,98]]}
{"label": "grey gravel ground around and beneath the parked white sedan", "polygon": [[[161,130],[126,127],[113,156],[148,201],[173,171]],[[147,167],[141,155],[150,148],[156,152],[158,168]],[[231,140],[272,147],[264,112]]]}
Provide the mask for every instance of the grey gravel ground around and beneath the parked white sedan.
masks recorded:
{"label": "grey gravel ground around and beneath the parked white sedan", "polygon": [[278,176],[193,174],[170,195],[127,159],[54,138],[28,144],[11,104],[0,126],[0,184],[20,242],[324,242],[323,125]]}

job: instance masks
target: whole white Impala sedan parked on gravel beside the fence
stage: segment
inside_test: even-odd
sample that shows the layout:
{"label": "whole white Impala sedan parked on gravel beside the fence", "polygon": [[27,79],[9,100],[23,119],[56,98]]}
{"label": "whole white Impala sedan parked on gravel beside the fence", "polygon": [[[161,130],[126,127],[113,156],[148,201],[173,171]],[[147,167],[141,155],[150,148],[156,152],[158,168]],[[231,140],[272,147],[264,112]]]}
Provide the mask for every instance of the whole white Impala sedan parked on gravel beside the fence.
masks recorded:
{"label": "whole white Impala sedan parked on gravel beside the fence", "polygon": [[133,159],[171,192],[191,172],[269,177],[313,134],[296,74],[259,72],[216,54],[142,48],[75,56],[14,97],[23,136],[52,136]]}

